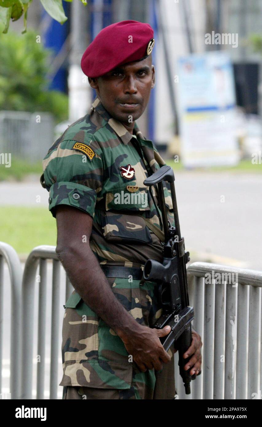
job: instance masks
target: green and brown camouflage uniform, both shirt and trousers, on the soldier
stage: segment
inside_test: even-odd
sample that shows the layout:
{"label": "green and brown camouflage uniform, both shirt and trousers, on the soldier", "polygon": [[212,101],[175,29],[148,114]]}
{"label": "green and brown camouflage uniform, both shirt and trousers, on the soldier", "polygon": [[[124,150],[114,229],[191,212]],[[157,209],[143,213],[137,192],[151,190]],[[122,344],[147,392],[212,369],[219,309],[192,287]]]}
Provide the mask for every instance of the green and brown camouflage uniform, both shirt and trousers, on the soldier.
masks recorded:
{"label": "green and brown camouflage uniform, both shirt and trousers, on the soldier", "polygon": [[[90,112],[69,126],[49,149],[41,184],[49,191],[54,217],[57,205],[73,206],[92,216],[90,247],[100,264],[140,267],[150,258],[162,260],[157,187],[146,187],[143,181],[164,164],[136,123],[131,135],[96,98]],[[164,193],[174,225],[166,186]],[[125,278],[108,278],[108,283],[137,322],[153,327],[161,315],[156,284]],[[67,386],[118,389],[121,398],[151,398],[154,369],[140,372],[119,336],[76,291],[64,307],[60,385],[65,390]],[[169,352],[172,356],[174,349]],[[166,387],[172,395],[173,358],[168,365],[169,380],[161,374],[158,389]]]}

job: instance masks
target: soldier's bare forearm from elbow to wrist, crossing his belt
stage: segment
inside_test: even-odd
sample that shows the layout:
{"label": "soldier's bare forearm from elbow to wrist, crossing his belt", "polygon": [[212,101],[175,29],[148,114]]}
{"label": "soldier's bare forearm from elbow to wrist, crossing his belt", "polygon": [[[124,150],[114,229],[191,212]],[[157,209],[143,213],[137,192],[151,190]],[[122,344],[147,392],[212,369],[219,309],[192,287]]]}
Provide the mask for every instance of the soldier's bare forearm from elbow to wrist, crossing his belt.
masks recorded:
{"label": "soldier's bare forearm from elbow to wrist, crossing his belt", "polygon": [[83,301],[120,337],[136,333],[139,324],[114,295],[90,246],[84,249],[71,248],[57,254]]}

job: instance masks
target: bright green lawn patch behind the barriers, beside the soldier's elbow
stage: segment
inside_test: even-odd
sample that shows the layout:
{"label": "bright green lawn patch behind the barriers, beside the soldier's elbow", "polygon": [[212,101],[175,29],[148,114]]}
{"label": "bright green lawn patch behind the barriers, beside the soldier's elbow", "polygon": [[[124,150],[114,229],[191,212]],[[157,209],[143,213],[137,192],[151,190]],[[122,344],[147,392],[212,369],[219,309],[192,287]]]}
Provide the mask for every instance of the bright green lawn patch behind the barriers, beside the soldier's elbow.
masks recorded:
{"label": "bright green lawn patch behind the barriers, beside the soldier's elbow", "polygon": [[19,255],[38,245],[56,246],[56,221],[48,208],[0,206],[0,218],[0,240]]}

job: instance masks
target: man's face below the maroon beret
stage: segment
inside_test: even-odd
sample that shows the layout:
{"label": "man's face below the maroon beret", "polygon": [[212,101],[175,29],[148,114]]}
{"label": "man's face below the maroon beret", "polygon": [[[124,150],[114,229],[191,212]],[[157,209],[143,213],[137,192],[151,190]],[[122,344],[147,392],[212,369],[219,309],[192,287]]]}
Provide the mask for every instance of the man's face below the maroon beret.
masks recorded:
{"label": "man's face below the maroon beret", "polygon": [[120,122],[130,123],[130,116],[134,121],[143,114],[154,88],[152,57],[129,62],[88,81],[109,114]]}

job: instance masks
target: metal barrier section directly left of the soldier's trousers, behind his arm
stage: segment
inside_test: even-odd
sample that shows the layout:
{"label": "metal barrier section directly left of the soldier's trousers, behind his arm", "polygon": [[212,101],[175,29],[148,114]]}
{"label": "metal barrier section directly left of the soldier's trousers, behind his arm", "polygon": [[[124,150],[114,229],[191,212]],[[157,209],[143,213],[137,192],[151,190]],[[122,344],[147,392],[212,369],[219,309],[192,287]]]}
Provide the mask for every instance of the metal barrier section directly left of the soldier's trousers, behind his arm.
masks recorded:
{"label": "metal barrier section directly left of the soldier's trousers, behind his arm", "polygon": [[[50,364],[50,399],[57,398],[58,386],[58,354],[60,353],[58,335],[59,325],[59,291],[60,291],[60,266],[55,252],[55,246],[37,246],[29,254],[23,272],[23,372],[22,372],[22,399],[32,399],[32,352],[33,352],[33,315],[34,292],[36,271],[39,265],[39,298],[38,298],[38,355],[41,363],[37,364],[37,390],[36,398],[44,398],[44,373],[45,373],[45,320],[47,305],[47,260],[52,259],[52,320],[51,320],[51,364]],[[66,300],[73,291],[66,276]]]}

